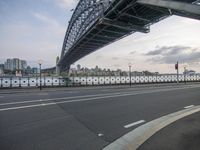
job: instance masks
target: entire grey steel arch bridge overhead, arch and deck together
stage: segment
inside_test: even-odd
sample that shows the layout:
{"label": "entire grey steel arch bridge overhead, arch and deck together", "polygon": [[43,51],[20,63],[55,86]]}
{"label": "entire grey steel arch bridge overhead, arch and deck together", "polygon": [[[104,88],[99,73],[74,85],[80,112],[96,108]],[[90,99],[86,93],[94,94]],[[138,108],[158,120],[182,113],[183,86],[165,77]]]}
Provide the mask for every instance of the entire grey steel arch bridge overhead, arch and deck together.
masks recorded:
{"label": "entire grey steel arch bridge overhead, arch and deck together", "polygon": [[200,0],[80,0],[69,21],[57,70],[171,15],[200,19]]}

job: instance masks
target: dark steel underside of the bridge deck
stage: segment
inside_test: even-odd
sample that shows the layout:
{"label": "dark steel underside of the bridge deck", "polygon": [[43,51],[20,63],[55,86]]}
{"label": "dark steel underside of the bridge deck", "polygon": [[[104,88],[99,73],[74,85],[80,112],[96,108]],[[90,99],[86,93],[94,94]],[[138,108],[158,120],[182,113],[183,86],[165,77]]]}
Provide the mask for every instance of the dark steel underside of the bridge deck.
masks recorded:
{"label": "dark steel underside of the bridge deck", "polygon": [[[156,1],[158,4],[159,0],[153,0],[152,2]],[[182,0],[182,2],[191,4],[194,0]],[[87,29],[87,32],[73,43],[68,51],[65,51],[66,39],[68,38],[67,36],[65,37],[58,66],[60,66],[61,71],[67,70],[71,64],[80,58],[125,36],[134,32],[150,32],[150,25],[173,14],[199,19],[197,14],[145,4],[145,0],[115,0],[95,23]]]}

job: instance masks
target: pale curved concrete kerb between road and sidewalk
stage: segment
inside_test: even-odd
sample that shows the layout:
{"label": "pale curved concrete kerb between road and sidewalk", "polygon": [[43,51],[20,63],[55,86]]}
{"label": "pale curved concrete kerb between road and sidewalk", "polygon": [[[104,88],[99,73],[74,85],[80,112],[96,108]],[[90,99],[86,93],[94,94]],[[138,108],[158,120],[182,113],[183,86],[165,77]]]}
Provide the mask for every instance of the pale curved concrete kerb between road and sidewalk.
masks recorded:
{"label": "pale curved concrete kerb between road and sidewalk", "polygon": [[102,150],[137,150],[145,141],[173,122],[200,112],[200,106],[183,109],[152,120],[125,134]]}

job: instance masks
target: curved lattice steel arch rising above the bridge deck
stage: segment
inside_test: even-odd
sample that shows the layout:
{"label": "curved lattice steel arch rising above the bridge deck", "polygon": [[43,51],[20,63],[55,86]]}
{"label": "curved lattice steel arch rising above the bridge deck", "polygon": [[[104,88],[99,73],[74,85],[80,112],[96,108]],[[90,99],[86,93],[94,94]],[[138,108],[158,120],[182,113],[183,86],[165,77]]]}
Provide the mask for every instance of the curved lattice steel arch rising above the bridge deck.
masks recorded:
{"label": "curved lattice steel arch rising above the bridge deck", "polygon": [[[109,1],[80,0],[71,20],[63,42],[61,57],[73,46],[74,43],[92,26],[100,15],[109,7]],[[62,59],[62,58],[61,58]]]}

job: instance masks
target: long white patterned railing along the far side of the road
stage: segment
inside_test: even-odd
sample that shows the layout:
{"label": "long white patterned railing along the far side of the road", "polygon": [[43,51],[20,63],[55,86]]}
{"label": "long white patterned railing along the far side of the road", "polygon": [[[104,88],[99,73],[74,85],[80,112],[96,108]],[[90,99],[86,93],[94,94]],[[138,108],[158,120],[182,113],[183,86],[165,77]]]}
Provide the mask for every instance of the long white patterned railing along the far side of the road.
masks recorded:
{"label": "long white patterned railing along the far side of the road", "polygon": [[[200,82],[200,76],[179,75],[179,82]],[[176,75],[159,75],[159,76],[104,76],[104,77],[42,77],[41,85],[45,87],[52,86],[87,86],[87,85],[115,85],[115,84],[147,84],[147,83],[173,83],[177,82]],[[17,88],[17,87],[38,87],[40,78],[0,78],[0,88]]]}

